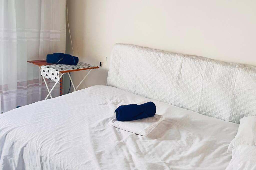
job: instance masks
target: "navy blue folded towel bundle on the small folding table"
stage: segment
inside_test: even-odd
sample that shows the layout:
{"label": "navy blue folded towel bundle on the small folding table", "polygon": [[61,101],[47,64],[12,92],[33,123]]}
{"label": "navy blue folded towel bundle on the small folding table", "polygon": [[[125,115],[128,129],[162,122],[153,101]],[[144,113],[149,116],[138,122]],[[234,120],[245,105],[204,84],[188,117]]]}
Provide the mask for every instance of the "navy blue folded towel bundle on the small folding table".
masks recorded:
{"label": "navy blue folded towel bundle on the small folding table", "polygon": [[71,56],[64,53],[47,54],[46,61],[54,64],[69,64],[76,66],[78,63],[78,57]]}

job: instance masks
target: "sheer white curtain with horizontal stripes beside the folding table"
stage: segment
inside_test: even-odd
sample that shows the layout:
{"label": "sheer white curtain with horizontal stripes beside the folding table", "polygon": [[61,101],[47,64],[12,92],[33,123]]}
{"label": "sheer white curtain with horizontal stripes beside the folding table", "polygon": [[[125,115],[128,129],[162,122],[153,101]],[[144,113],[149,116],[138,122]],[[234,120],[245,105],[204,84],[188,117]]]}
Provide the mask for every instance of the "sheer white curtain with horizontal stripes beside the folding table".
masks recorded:
{"label": "sheer white curtain with horizontal stripes beside the folding table", "polygon": [[27,61],[65,53],[65,12],[65,0],[0,0],[0,111],[48,94],[38,67]]}

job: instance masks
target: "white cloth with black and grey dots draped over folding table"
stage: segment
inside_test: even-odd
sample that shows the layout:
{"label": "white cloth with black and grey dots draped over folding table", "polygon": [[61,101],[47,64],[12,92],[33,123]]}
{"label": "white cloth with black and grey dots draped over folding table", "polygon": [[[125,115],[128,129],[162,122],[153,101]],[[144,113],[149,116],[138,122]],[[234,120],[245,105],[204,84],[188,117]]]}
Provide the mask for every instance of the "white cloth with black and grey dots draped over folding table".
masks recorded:
{"label": "white cloth with black and grey dots draped over folding table", "polygon": [[77,69],[84,69],[84,68],[91,68],[91,67],[96,67],[96,66],[83,63],[83,62],[78,62],[76,66],[68,65],[68,64],[51,64],[51,65],[41,66],[41,76],[59,83],[60,71],[77,70]]}

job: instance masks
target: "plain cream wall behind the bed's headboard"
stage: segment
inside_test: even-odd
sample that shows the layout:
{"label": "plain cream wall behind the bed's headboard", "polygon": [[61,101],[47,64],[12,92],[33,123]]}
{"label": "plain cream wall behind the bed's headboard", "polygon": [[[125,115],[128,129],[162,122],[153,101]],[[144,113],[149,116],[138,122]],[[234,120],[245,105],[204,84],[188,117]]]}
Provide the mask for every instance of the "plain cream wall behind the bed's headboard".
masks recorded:
{"label": "plain cream wall behind the bed's headboard", "polygon": [[[253,0],[68,0],[74,55],[94,64],[115,43],[256,66],[256,1]],[[72,54],[67,31],[67,53]],[[86,71],[73,73],[78,84]],[[106,84],[93,70],[81,88]]]}

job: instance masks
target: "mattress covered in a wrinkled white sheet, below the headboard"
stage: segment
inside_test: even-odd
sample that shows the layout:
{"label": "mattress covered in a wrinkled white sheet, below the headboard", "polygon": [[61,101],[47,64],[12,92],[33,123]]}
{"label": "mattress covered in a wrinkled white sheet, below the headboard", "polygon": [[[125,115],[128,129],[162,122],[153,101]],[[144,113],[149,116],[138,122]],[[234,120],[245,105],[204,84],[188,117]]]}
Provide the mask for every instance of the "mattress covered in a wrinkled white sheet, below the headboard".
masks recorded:
{"label": "mattress covered in a wrinkled white sheet, below the headboard", "polygon": [[[148,136],[108,123],[124,104],[165,116]],[[238,124],[110,86],[92,86],[0,115],[0,169],[225,169]]]}

